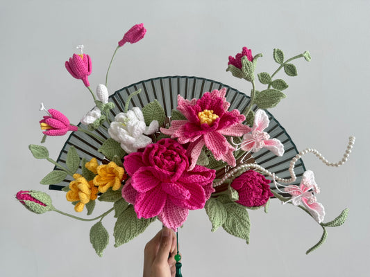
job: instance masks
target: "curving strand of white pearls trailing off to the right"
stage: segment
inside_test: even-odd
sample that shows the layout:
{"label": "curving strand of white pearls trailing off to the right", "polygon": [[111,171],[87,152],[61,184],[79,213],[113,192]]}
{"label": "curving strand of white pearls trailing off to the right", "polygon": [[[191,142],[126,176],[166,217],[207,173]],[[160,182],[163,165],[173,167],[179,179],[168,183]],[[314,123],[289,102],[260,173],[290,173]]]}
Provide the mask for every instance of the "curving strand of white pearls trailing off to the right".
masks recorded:
{"label": "curving strand of white pearls trailing off to the right", "polygon": [[274,173],[269,172],[269,170],[267,170],[265,168],[262,168],[262,166],[258,165],[257,163],[244,163],[244,164],[241,164],[240,166],[237,166],[236,168],[233,168],[233,170],[226,173],[220,181],[217,181],[213,185],[213,187],[221,186],[221,184],[223,184],[224,181],[226,181],[226,179],[232,177],[239,170],[242,170],[242,169],[243,170],[249,170],[249,168],[255,168],[256,170],[259,170],[260,172],[264,173],[265,175],[273,177],[276,181],[280,181],[280,182],[283,182],[285,184],[291,184],[294,181],[296,181],[296,174],[294,172],[294,166],[296,164],[296,161],[298,161],[298,159],[301,159],[301,157],[303,157],[305,154],[308,154],[308,153],[315,154],[316,157],[318,157],[323,163],[326,164],[326,166],[339,167],[339,166],[342,166],[342,164],[347,161],[347,159],[349,157],[349,154],[351,154],[351,150],[352,150],[354,144],[355,144],[355,137],[350,136],[346,152],[344,152],[342,160],[338,161],[337,163],[329,163],[328,160],[325,159],[325,157],[323,157],[323,155],[319,151],[317,151],[316,149],[306,148],[305,150],[302,150],[301,152],[296,154],[296,156],[292,159],[292,161],[290,161],[290,166],[289,166],[289,174],[290,174],[290,177],[291,177],[290,179],[282,179],[282,178],[276,177],[276,175]]}

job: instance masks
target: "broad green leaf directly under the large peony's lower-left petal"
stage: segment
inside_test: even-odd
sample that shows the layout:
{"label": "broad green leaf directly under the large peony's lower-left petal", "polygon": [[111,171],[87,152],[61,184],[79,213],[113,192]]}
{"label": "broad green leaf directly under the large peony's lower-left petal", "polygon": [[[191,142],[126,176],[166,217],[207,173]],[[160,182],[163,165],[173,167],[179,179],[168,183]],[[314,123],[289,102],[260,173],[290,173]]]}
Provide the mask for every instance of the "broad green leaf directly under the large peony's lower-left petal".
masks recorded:
{"label": "broad green leaf directly under the large peony's lower-left petal", "polygon": [[115,237],[115,247],[125,244],[137,235],[140,235],[145,229],[155,221],[155,217],[138,219],[132,205],[119,215],[115,224],[113,236]]}

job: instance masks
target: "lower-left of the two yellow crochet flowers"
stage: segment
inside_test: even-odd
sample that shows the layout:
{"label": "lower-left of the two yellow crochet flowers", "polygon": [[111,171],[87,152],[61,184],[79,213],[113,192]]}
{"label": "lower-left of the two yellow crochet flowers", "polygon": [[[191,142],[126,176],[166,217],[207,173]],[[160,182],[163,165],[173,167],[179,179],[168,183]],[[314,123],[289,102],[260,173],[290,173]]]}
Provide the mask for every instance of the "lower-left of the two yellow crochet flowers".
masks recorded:
{"label": "lower-left of the two yellow crochet flowers", "polygon": [[79,174],[74,174],[74,181],[69,183],[69,192],[65,195],[68,201],[78,203],[74,206],[74,211],[80,213],[83,211],[85,204],[89,203],[90,200],[95,200],[98,197],[98,188],[94,186],[93,181],[87,181],[84,177]]}

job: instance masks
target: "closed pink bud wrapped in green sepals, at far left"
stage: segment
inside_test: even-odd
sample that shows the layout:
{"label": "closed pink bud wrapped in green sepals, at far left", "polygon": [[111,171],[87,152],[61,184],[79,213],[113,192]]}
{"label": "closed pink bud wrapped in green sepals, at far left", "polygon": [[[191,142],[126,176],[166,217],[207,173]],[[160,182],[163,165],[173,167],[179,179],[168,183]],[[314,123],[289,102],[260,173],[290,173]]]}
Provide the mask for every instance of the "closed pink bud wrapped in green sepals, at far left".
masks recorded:
{"label": "closed pink bud wrapped in green sepals, at far left", "polygon": [[33,213],[46,213],[53,210],[50,196],[41,191],[20,190],[15,198]]}

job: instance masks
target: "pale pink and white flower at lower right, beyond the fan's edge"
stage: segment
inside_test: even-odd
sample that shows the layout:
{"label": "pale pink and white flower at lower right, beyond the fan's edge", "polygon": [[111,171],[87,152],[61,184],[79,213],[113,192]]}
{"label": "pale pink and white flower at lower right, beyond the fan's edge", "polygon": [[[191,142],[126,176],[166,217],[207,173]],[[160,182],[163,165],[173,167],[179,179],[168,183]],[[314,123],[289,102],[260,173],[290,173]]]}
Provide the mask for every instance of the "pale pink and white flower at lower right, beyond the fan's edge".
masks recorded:
{"label": "pale pink and white flower at lower right, beyond the fan's edge", "polygon": [[289,185],[285,187],[285,191],[292,195],[292,204],[294,204],[294,206],[303,204],[312,217],[314,217],[314,220],[321,223],[325,216],[325,210],[321,203],[317,203],[316,197],[314,197],[310,191],[311,189],[314,193],[320,192],[319,187],[314,181],[314,172],[311,170],[307,170],[303,173],[302,181],[299,186]]}

